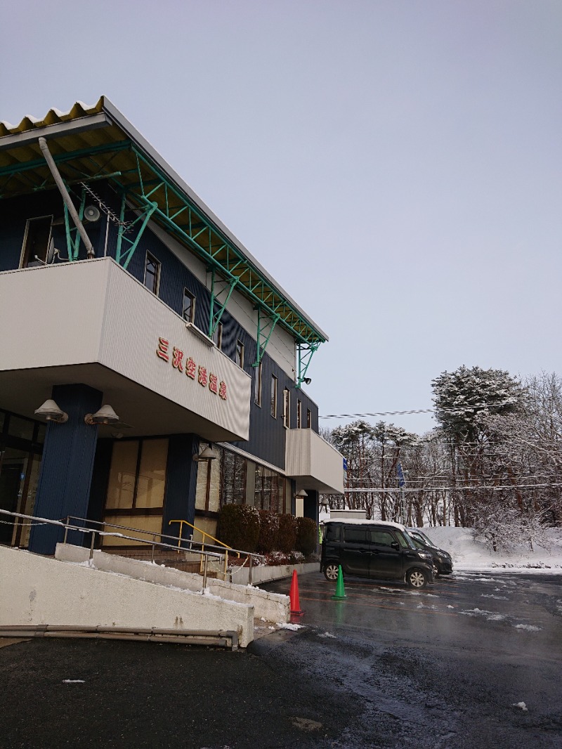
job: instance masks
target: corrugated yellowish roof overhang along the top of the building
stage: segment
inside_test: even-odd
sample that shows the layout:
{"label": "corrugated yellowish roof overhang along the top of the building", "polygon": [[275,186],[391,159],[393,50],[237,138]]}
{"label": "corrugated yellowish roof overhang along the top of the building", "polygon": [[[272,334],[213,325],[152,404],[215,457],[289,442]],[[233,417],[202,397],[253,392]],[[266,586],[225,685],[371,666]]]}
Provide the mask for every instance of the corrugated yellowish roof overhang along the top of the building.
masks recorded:
{"label": "corrugated yellowish roof overhang along the top of the building", "polygon": [[149,212],[208,267],[235,284],[256,306],[312,350],[327,335],[303,312],[244,245],[151,144],[107,99],[50,109],[39,120],[0,122],[0,198],[55,187],[40,151],[44,137],[68,185],[106,179],[123,204]]}

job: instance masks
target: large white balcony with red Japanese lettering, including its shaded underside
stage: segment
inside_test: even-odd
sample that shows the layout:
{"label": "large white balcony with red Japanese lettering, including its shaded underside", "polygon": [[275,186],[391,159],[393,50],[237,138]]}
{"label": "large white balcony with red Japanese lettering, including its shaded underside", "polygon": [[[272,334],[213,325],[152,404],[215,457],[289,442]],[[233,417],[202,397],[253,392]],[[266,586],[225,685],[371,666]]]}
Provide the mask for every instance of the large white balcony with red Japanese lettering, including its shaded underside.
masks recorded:
{"label": "large white balcony with red Japanese lettering, including its shaded underside", "polygon": [[0,273],[0,319],[0,407],[33,417],[53,385],[84,383],[127,437],[248,438],[250,376],[112,258]]}

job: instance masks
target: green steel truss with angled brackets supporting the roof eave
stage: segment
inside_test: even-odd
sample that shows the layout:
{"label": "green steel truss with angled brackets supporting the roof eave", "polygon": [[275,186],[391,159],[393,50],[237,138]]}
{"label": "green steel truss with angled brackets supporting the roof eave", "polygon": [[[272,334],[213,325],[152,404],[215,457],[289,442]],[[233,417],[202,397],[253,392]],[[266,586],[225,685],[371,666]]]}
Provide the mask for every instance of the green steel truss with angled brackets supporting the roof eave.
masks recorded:
{"label": "green steel truss with angled brackets supporting the roof eave", "polygon": [[[116,259],[127,268],[139,240],[152,219],[197,255],[211,272],[211,315],[209,335],[213,336],[236,288],[251,300],[258,311],[258,366],[277,324],[297,342],[297,386],[306,377],[312,354],[325,341],[321,332],[275,285],[253,265],[241,249],[187,195],[184,189],[129,139],[108,142],[76,151],[53,153],[65,183],[85,184],[107,179],[121,195]],[[17,189],[10,182],[17,180]],[[43,158],[0,168],[0,198],[22,192],[52,189],[52,178]],[[85,206],[85,190],[80,195],[79,216]],[[126,220],[127,217],[127,220]],[[65,211],[68,259],[78,257],[79,234],[70,226]],[[221,288],[219,289],[219,285]]]}

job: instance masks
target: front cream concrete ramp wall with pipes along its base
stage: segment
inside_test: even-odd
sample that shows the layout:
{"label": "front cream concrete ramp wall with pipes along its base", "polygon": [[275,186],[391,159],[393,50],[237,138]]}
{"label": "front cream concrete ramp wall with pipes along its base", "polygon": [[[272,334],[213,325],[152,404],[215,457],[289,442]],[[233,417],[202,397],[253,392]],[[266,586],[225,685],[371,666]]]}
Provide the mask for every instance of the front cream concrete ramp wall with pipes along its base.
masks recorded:
{"label": "front cream concrete ramp wall with pipes along its base", "polygon": [[0,546],[0,625],[222,629],[246,647],[253,619],[247,604]]}

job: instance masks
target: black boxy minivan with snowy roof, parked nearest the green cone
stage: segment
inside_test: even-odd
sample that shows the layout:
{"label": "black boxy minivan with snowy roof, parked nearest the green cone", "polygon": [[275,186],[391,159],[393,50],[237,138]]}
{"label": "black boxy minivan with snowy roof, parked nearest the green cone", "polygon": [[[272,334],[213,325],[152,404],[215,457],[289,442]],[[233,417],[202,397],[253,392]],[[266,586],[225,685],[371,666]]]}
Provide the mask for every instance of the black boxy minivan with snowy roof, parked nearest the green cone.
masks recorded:
{"label": "black boxy minivan with snowy roof, parked nearest the green cone", "polygon": [[321,570],[327,580],[345,574],[403,580],[411,588],[433,582],[433,558],[417,549],[403,525],[361,520],[324,523]]}

